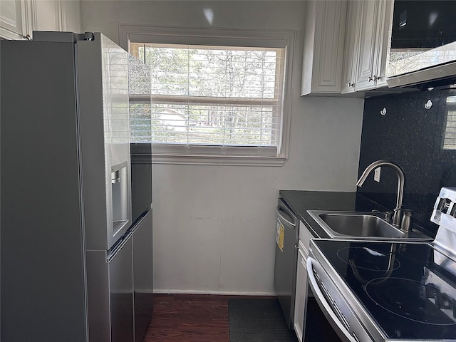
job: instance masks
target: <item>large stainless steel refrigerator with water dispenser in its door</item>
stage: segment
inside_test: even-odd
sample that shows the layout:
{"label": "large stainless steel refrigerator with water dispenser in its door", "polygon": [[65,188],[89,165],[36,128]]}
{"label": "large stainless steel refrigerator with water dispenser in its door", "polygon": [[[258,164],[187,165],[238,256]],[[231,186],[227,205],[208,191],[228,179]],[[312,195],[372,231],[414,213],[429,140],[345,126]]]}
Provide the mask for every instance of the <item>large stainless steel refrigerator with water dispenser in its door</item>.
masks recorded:
{"label": "large stainless steel refrigerator with water dispenser in its door", "polygon": [[152,210],[132,217],[128,53],[38,31],[0,51],[1,341],[141,341]]}

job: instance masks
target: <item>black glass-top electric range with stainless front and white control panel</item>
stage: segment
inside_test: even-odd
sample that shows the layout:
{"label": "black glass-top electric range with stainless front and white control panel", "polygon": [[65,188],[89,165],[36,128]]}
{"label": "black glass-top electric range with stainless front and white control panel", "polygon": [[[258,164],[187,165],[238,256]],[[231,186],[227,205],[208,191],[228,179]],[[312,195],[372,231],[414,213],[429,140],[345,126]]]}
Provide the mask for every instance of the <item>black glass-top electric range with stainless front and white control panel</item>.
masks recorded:
{"label": "black glass-top electric range with stainless front and white control panel", "polygon": [[309,284],[343,341],[456,341],[455,202],[442,188],[434,242],[311,241]]}

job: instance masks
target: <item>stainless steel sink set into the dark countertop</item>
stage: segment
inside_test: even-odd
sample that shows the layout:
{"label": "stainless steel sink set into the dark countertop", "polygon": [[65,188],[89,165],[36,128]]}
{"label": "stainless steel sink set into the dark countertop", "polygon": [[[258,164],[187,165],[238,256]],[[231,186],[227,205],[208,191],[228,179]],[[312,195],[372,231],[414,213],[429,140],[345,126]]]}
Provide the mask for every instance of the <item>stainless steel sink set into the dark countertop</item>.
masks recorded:
{"label": "stainless steel sink set into the dark countertop", "polygon": [[382,212],[331,212],[308,210],[311,217],[331,238],[339,239],[425,239],[430,237],[410,230],[403,232],[385,221]]}

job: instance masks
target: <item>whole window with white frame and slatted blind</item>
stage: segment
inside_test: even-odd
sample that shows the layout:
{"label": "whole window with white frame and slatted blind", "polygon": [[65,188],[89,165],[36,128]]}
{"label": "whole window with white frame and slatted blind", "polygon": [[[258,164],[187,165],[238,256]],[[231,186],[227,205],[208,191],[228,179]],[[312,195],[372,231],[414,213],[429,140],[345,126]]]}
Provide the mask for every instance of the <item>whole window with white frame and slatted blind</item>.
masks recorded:
{"label": "whole window with white frame and slatted blind", "polygon": [[151,98],[140,73],[130,92],[132,141],[152,135],[155,162],[283,163],[290,35],[161,29],[129,36],[130,53],[150,66]]}

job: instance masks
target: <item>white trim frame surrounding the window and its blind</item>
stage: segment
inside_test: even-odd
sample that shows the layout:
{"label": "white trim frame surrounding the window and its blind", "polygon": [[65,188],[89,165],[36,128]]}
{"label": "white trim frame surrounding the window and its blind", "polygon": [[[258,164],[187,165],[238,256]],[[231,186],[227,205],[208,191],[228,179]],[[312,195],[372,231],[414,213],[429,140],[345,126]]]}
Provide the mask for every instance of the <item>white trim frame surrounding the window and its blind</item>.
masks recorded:
{"label": "white trim frame surrounding the window and its blind", "polygon": [[[157,164],[192,164],[192,165],[255,165],[255,166],[281,166],[288,158],[289,132],[291,118],[291,76],[293,75],[293,56],[296,31],[290,30],[240,30],[224,28],[188,28],[177,26],[154,25],[119,25],[120,46],[128,51],[130,41],[141,43],[176,43],[195,45],[223,45],[223,46],[257,46],[257,47],[285,47],[285,73],[283,113],[281,120],[281,133],[276,156],[254,155],[255,147],[228,147],[239,149],[238,155],[220,155],[212,153],[213,147],[202,147],[201,153],[172,154],[163,153],[159,147],[152,151],[152,162]],[[140,151],[138,146],[135,159],[141,157],[145,162],[150,160],[150,152]],[[174,147],[172,147],[174,148]],[[185,146],[177,145],[177,149]],[[248,155],[245,155],[245,154]],[[244,154],[244,155],[243,155]]]}

